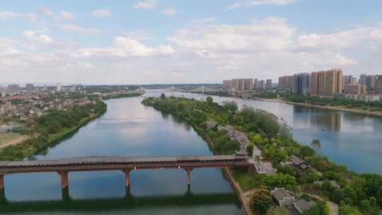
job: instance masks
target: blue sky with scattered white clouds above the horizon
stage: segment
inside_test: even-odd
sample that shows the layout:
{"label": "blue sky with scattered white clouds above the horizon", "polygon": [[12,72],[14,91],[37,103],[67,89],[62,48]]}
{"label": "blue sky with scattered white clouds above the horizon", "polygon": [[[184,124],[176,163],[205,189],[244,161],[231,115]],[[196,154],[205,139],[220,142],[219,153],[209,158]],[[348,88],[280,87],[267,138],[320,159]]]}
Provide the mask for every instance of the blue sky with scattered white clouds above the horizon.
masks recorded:
{"label": "blue sky with scattered white clouds above the horizon", "polygon": [[1,0],[0,83],[382,74],[381,0]]}

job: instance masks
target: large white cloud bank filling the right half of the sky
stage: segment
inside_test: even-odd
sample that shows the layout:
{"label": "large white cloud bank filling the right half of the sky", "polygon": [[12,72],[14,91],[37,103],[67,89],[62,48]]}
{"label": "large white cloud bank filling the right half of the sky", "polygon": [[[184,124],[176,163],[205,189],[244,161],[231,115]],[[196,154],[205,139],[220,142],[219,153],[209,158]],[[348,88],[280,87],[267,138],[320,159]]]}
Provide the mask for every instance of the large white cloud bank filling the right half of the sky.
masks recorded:
{"label": "large white cloud bank filling the right half of the sky", "polygon": [[274,79],[332,67],[354,72],[354,66],[364,63],[360,62],[362,55],[378,55],[378,50],[369,46],[382,44],[382,28],[300,34],[287,19],[270,17],[242,25],[194,25],[176,30],[170,41],[187,61],[203,68],[201,71],[226,78],[251,74]]}

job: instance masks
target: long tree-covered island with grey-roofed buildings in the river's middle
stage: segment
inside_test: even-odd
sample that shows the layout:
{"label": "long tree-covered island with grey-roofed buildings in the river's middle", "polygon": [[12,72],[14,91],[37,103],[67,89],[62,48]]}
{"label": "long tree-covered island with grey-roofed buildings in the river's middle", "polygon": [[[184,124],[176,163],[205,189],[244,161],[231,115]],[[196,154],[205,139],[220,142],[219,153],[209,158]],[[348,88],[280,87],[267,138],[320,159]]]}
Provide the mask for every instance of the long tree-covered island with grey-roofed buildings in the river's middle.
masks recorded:
{"label": "long tree-covered island with grey-roofed buildings in the river's middle", "polygon": [[[232,170],[249,196],[250,207],[260,214],[291,214],[296,209],[302,214],[334,214],[337,210],[340,215],[379,214],[381,175],[357,174],[329,161],[310,146],[294,141],[291,128],[268,112],[249,107],[238,110],[236,103],[219,105],[211,97],[199,101],[163,95],[142,103],[190,124],[216,154],[236,153],[245,146],[255,158],[253,153],[260,151],[260,163],[271,163],[277,173]],[[243,144],[245,138],[248,144]],[[318,147],[319,141],[315,139],[311,145]],[[293,204],[283,206],[289,197],[294,198]]]}

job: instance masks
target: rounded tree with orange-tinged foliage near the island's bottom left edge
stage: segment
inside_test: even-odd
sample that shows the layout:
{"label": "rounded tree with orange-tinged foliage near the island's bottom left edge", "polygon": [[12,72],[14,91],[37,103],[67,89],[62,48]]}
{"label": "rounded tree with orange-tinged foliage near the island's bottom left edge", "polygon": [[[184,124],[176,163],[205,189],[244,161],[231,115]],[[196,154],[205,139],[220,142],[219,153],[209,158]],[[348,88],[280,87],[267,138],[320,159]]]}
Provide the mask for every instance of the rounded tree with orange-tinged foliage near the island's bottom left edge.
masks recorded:
{"label": "rounded tree with orange-tinged foliage near the island's bottom left edge", "polygon": [[253,192],[250,206],[253,210],[264,213],[270,207],[272,197],[270,190],[265,186],[260,186]]}

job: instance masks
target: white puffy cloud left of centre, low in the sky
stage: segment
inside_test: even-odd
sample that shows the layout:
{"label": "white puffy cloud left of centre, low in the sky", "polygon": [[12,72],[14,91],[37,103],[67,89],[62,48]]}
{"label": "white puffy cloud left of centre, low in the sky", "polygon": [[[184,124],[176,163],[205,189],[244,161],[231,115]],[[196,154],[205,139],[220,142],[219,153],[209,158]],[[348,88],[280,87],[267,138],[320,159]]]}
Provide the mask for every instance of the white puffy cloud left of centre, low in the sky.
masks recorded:
{"label": "white puffy cloud left of centre, low in the sky", "polygon": [[76,50],[72,57],[154,57],[173,54],[169,45],[156,48],[141,44],[129,37],[115,37],[112,47],[91,47]]}

